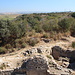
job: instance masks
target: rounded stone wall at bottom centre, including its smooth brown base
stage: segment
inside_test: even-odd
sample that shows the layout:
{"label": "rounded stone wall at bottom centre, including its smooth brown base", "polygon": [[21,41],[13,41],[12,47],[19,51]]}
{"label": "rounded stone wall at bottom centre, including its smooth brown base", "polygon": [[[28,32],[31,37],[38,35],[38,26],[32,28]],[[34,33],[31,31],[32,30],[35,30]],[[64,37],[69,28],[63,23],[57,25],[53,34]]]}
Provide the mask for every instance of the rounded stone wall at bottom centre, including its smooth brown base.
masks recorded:
{"label": "rounded stone wall at bottom centre, including its smooth brown base", "polygon": [[47,75],[48,62],[43,56],[34,56],[26,62],[27,75]]}

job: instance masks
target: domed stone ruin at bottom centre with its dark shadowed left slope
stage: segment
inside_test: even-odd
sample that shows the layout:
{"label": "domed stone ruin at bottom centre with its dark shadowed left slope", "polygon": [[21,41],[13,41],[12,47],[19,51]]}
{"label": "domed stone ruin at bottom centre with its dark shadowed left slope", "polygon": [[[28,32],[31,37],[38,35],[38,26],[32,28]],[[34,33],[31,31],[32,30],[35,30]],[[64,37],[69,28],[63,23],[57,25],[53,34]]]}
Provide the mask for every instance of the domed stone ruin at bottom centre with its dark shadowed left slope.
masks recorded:
{"label": "domed stone ruin at bottom centre with its dark shadowed left slope", "polygon": [[34,56],[26,60],[21,68],[15,69],[12,75],[49,75],[48,61],[41,55]]}

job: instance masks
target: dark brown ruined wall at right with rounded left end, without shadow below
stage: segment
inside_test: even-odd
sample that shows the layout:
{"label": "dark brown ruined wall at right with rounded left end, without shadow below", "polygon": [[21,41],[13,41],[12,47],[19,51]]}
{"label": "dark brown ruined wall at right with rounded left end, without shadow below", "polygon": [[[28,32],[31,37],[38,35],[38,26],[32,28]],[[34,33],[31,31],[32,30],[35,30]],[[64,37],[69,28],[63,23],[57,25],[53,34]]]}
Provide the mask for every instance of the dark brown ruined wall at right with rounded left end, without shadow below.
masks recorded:
{"label": "dark brown ruined wall at right with rounded left end, without shadow below", "polygon": [[72,61],[75,60],[75,50],[64,50],[59,46],[54,46],[52,48],[52,55],[55,59],[59,59],[59,57],[68,57]]}

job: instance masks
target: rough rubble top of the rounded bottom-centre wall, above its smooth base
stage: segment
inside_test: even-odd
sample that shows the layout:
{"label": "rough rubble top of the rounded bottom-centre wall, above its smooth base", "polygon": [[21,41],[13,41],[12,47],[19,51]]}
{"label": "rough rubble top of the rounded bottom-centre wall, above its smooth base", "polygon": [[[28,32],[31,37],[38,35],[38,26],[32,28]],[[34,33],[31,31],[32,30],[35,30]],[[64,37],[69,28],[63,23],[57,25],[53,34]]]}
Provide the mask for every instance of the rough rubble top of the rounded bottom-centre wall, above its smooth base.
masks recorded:
{"label": "rough rubble top of the rounded bottom-centre wall, above its smooth base", "polygon": [[34,69],[34,70],[47,70],[48,62],[47,59],[43,56],[34,56],[27,60],[26,69]]}

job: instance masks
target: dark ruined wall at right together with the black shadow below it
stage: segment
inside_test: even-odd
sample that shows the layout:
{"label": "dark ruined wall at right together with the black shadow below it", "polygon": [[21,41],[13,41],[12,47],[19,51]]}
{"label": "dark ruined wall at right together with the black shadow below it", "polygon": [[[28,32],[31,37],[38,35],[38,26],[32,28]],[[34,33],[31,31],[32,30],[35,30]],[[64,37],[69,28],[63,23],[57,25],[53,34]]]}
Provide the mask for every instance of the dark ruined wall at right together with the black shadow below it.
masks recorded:
{"label": "dark ruined wall at right together with the black shadow below it", "polygon": [[52,56],[56,60],[59,60],[61,57],[64,58],[64,61],[69,62],[67,68],[75,70],[75,50],[64,50],[59,46],[54,46],[52,48]]}

